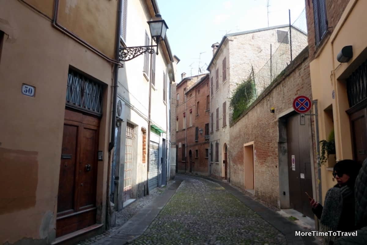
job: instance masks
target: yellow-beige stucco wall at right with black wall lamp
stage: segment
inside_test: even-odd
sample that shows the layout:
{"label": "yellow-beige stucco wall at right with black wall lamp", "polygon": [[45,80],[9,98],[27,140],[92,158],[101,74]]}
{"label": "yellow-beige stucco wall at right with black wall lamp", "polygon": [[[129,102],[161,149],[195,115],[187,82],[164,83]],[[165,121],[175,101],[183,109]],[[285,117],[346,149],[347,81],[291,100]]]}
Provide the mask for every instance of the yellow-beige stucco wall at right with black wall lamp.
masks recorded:
{"label": "yellow-beige stucco wall at right with black wall lamp", "polygon": [[[366,1],[350,0],[330,38],[317,51],[316,58],[310,63],[312,97],[319,103],[320,140],[327,139],[332,129],[324,112],[332,105],[337,161],[353,158],[349,116],[345,113],[349,108],[345,78],[367,58],[365,52],[367,27],[363,21],[360,21],[366,8]],[[353,58],[348,63],[341,63],[338,67],[337,54],[346,45],[353,46]],[[333,70],[335,72],[332,72]],[[331,74],[333,76],[330,76]],[[335,99],[332,98],[333,90]],[[332,178],[332,171],[327,170],[326,165],[323,165],[321,167],[323,197],[326,191],[336,183]]]}

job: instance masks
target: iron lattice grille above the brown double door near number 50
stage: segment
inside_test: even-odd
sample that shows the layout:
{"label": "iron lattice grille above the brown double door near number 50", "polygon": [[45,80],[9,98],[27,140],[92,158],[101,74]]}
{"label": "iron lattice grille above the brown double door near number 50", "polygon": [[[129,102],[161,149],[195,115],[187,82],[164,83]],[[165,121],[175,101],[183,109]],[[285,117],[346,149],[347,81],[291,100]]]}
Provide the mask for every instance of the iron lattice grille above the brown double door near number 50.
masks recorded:
{"label": "iron lattice grille above the brown double door near number 50", "polygon": [[69,70],[66,105],[102,115],[103,85],[75,70]]}

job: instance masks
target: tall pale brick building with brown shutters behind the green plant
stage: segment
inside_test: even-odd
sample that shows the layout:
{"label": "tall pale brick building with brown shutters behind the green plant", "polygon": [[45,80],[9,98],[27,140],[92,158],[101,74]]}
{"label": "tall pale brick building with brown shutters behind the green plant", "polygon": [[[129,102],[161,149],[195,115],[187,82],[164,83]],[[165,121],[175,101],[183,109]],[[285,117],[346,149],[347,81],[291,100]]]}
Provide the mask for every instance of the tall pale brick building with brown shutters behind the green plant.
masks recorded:
{"label": "tall pale brick building with brown shutters behind the green plant", "polygon": [[[269,60],[270,45],[274,50],[282,45],[290,49],[289,42],[284,42],[289,25],[272,26],[246,32],[226,34],[221,43],[212,45],[213,58],[208,65],[210,72],[210,176],[230,181],[229,122],[231,118],[229,98],[237,84],[246,80],[251,68],[256,74]],[[304,40],[306,34],[292,27],[292,35]],[[288,40],[288,39],[287,39]],[[301,50],[295,51],[300,52]],[[285,53],[286,55],[286,53]]]}

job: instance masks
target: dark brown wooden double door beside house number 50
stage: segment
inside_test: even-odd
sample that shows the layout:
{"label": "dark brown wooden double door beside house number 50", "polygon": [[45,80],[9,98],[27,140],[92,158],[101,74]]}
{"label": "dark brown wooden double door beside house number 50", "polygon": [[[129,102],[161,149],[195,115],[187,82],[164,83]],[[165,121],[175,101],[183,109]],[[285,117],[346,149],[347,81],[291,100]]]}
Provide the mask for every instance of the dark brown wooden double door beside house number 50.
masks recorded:
{"label": "dark brown wooden double door beside house number 50", "polygon": [[56,237],[96,223],[99,119],[65,110]]}

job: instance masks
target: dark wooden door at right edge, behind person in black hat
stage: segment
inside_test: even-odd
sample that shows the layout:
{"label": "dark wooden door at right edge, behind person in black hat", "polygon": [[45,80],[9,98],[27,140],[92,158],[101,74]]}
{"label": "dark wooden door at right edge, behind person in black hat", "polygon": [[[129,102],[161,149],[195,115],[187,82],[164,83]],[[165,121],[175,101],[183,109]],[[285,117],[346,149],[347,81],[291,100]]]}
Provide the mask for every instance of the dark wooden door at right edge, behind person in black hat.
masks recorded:
{"label": "dark wooden door at right edge, behind person in black hat", "polygon": [[367,112],[366,108],[350,115],[353,139],[353,158],[360,164],[367,157]]}

